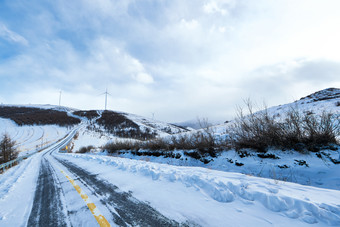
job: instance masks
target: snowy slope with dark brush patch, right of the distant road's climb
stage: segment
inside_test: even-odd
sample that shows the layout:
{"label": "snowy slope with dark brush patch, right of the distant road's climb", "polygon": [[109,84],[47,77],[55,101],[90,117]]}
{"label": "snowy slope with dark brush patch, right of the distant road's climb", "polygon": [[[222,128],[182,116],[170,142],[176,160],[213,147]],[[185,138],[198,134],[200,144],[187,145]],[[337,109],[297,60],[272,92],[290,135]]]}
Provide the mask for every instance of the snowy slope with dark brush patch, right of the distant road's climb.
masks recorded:
{"label": "snowy slope with dark brush patch, right of the distant road's climb", "polygon": [[[165,122],[118,111],[97,111],[92,119],[82,118],[88,127],[79,131],[73,143],[73,151],[81,147],[101,147],[110,141],[144,140],[166,137],[187,130]],[[103,117],[105,115],[105,117]],[[116,119],[116,120],[115,120]],[[132,136],[129,136],[133,134]],[[146,136],[146,138],[143,138]]]}

